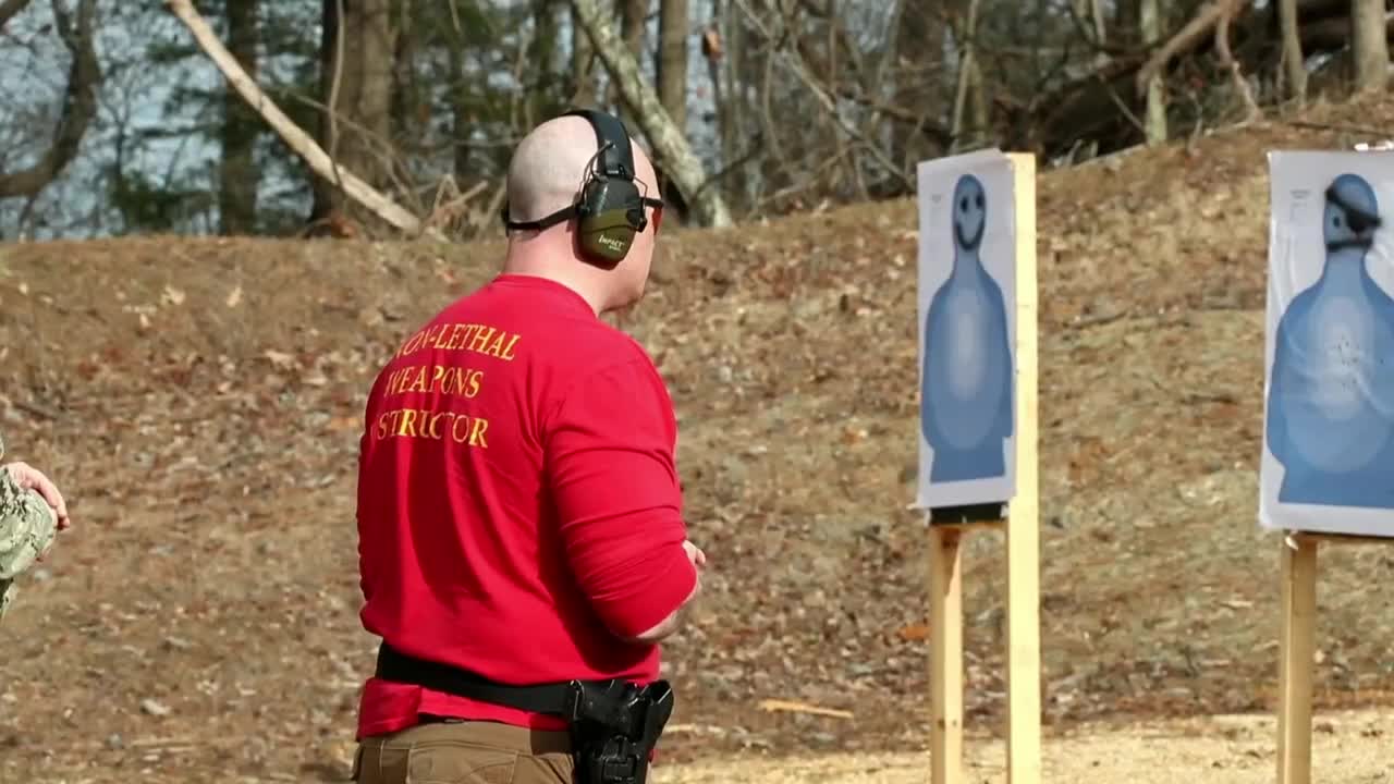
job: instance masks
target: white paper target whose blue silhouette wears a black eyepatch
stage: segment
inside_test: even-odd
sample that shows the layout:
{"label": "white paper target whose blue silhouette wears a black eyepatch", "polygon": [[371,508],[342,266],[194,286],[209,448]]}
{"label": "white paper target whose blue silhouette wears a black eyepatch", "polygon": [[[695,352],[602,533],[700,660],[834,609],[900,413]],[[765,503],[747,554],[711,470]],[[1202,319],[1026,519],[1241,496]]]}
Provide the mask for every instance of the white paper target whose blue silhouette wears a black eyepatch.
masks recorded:
{"label": "white paper target whose blue silhouette wears a black eyepatch", "polygon": [[1394,153],[1270,153],[1259,518],[1394,536]]}

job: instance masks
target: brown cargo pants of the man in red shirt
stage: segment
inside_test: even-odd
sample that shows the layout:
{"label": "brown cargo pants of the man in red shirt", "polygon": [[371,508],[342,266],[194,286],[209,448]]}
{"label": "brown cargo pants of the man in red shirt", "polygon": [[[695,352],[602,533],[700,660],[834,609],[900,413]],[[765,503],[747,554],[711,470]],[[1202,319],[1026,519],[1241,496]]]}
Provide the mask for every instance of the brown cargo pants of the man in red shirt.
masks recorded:
{"label": "brown cargo pants of the man in red shirt", "polygon": [[572,784],[566,732],[493,721],[432,721],[364,738],[358,784]]}

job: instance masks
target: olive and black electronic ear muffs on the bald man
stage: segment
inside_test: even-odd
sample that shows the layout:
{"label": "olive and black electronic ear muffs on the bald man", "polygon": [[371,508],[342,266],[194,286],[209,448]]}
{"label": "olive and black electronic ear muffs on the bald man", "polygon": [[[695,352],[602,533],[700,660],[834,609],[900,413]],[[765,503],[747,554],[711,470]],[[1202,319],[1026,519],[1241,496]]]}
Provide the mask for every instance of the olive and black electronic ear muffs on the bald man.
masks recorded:
{"label": "olive and black electronic ear muffs on the bald man", "polygon": [[542,230],[576,218],[577,247],[587,261],[615,266],[629,254],[634,236],[648,226],[645,208],[664,208],[657,198],[644,197],[634,181],[634,151],[629,131],[618,117],[592,109],[573,109],[562,117],[584,117],[595,130],[599,151],[587,165],[580,195],[567,208],[546,218],[513,222],[503,208],[507,229]]}

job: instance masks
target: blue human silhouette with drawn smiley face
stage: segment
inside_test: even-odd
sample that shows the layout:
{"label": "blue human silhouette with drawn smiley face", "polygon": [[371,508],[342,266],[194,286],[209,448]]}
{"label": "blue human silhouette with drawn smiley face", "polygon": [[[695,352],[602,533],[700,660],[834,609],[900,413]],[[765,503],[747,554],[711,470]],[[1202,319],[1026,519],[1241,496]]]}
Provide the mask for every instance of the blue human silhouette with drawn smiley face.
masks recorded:
{"label": "blue human silhouette with drawn smiley face", "polygon": [[979,255],[987,197],[977,177],[959,177],[952,209],[953,269],[924,318],[920,428],[934,448],[931,483],[1005,476],[1012,435],[1006,304]]}

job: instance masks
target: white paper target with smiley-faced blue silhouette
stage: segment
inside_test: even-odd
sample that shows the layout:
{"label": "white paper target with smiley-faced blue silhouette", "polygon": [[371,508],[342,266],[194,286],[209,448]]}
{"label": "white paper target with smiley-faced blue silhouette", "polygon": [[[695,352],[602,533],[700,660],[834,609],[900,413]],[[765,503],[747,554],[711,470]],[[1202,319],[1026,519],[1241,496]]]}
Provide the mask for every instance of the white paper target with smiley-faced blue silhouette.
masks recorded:
{"label": "white paper target with smiley-faced blue silhouette", "polygon": [[986,151],[919,166],[921,508],[1015,492],[1015,194]]}

